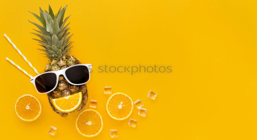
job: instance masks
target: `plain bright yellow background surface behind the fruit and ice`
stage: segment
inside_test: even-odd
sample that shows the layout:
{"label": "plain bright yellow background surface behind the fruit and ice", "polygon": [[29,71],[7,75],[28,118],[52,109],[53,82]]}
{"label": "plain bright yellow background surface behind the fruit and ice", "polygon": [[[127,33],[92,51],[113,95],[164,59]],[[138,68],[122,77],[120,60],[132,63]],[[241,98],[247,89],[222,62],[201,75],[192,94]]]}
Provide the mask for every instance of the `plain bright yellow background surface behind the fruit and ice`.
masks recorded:
{"label": "plain bright yellow background surface behind the fruit and ice", "polygon": [[[97,100],[103,116],[102,133],[91,139],[256,139],[257,10],[250,0],[131,0],[131,1],[2,1],[0,139],[88,139],[75,129],[79,112],[67,119],[54,113],[47,95],[36,93],[25,74],[5,60],[9,57],[27,72],[33,70],[2,36],[6,33],[31,63],[43,72],[47,59],[31,38],[39,23],[28,11],[39,6],[56,13],[68,5],[66,16],[75,41],[72,54],[93,64],[88,98]],[[98,73],[98,66],[172,66],[172,73]],[[103,88],[141,99],[145,118],[135,109],[128,120],[115,121],[106,113]],[[156,100],[147,98],[149,90]],[[23,122],[14,103],[23,94],[36,95],[42,114]],[[85,108],[88,108],[89,104]],[[53,125],[55,136],[47,134]]]}

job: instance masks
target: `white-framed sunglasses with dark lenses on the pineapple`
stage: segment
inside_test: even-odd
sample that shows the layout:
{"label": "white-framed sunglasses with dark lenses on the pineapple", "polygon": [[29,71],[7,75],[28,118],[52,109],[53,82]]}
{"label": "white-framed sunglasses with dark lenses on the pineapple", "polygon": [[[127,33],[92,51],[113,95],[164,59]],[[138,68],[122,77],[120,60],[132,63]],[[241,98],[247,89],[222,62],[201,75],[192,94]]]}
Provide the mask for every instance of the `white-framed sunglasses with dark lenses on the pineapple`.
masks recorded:
{"label": "white-framed sunglasses with dark lenses on the pineapple", "polygon": [[60,75],[63,75],[72,85],[83,85],[87,83],[90,80],[91,68],[91,64],[77,64],[62,70],[41,73],[31,78],[30,81],[39,94],[45,94],[57,87]]}

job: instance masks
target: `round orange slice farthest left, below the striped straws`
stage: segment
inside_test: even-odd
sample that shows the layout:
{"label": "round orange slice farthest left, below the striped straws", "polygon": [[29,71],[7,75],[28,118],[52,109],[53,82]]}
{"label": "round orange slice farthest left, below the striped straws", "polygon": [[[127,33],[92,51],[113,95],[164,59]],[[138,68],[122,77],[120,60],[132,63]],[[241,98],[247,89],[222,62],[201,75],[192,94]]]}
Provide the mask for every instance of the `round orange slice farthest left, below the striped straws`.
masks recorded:
{"label": "round orange slice farthest left, below the striped straws", "polygon": [[25,122],[36,120],[41,114],[41,104],[34,95],[25,94],[19,97],[15,103],[16,115]]}

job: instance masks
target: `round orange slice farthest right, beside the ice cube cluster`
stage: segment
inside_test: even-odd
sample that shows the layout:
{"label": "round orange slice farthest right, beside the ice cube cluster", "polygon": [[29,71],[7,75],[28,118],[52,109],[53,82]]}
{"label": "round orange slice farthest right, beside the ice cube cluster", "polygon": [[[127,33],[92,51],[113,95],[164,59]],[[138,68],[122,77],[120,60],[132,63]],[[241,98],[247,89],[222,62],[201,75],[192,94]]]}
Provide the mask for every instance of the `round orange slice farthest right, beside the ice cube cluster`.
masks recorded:
{"label": "round orange slice farthest right, beside the ice cube cluster", "polygon": [[106,111],[115,120],[128,118],[133,110],[132,99],[123,93],[115,93],[109,97],[106,103]]}

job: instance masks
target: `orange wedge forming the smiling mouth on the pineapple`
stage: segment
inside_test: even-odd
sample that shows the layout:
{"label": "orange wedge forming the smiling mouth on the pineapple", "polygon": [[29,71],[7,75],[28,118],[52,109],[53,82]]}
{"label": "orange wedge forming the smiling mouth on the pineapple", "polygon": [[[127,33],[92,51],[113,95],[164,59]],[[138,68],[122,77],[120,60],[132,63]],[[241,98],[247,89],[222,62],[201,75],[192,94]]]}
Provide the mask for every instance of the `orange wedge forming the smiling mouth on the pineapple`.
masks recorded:
{"label": "orange wedge forming the smiling mouth on the pineapple", "polygon": [[82,93],[78,92],[70,96],[52,99],[53,106],[61,112],[71,112],[78,108],[82,100]]}

